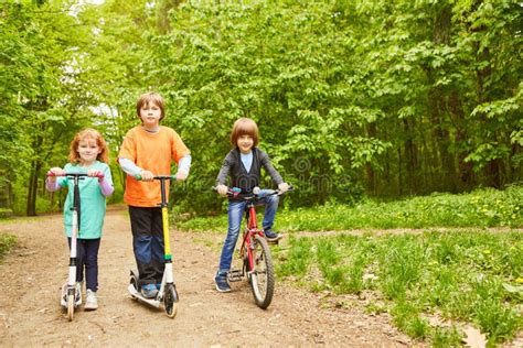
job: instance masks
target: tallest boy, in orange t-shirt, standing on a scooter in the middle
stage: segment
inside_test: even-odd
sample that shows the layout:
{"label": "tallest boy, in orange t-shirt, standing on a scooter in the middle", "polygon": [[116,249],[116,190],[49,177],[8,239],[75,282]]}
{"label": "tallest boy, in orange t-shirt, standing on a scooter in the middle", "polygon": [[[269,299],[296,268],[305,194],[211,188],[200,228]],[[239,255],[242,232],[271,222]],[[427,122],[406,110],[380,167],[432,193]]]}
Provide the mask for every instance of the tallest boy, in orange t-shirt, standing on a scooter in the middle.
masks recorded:
{"label": "tallest boy, in orange t-shirt, standing on a scooter in the middle", "polygon": [[[124,202],[129,206],[132,247],[140,278],[141,294],[153,298],[163,276],[163,227],[160,184],[154,175],[169,175],[171,160],[178,163],[178,181],[184,181],[191,155],[180,135],[160,126],[166,117],[163,98],[156,93],[140,96],[136,111],[141,124],[130,129],[118,153],[118,163],[127,173]],[[141,181],[136,180],[141,176]],[[167,192],[169,192],[169,182]]]}

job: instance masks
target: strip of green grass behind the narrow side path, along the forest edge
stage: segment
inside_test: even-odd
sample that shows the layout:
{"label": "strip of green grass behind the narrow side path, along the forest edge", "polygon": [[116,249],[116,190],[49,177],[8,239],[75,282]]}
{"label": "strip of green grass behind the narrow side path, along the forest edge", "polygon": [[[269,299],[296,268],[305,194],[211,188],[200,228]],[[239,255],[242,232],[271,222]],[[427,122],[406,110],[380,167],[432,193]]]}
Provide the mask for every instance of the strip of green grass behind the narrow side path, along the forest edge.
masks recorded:
{"label": "strip of green grass behind the narrow side path, along the forest edge", "polygon": [[[224,231],[227,214],[186,221],[174,219],[185,230]],[[279,211],[276,228],[280,231],[324,231],[355,228],[429,227],[523,227],[523,186],[504,191],[477,189],[469,194],[433,194],[397,202],[366,199],[355,206],[324,206]]]}

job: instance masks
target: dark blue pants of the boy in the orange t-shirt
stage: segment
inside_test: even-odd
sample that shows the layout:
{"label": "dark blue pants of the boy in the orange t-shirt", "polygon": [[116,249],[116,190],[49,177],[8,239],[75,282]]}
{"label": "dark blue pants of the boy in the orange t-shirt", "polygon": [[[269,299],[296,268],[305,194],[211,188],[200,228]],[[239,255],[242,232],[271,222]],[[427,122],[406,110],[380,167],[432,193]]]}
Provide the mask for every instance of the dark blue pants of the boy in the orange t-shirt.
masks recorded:
{"label": "dark blue pants of the boy in the orange t-shirt", "polygon": [[140,286],[160,284],[166,262],[161,208],[129,206],[129,216]]}

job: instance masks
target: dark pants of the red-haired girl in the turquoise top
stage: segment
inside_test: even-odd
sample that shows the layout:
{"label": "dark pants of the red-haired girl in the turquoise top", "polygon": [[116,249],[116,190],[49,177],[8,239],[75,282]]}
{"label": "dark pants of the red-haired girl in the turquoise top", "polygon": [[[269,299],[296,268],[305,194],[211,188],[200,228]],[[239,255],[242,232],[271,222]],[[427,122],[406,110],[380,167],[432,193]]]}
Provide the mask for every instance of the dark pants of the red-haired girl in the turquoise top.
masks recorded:
{"label": "dark pants of the red-haired girl in the turquoise top", "polygon": [[[71,238],[67,238],[71,249]],[[84,280],[85,289],[98,291],[98,250],[100,238],[76,240],[76,281]]]}

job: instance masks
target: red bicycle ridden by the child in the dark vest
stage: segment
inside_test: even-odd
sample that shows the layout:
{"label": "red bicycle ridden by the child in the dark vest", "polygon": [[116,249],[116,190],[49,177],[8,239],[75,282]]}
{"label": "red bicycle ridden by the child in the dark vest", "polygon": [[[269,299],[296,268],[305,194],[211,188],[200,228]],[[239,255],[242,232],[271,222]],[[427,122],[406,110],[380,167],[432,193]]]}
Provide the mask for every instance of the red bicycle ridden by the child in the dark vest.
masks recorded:
{"label": "red bicycle ridden by the child in the dark vest", "polygon": [[[289,188],[288,191],[291,189]],[[241,198],[238,197],[239,188],[234,187],[227,193],[227,196],[247,202],[245,206],[246,227],[243,231],[242,247],[239,248],[239,260],[242,260],[243,267],[241,270],[231,270],[227,279],[230,282],[238,282],[247,276],[256,305],[265,309],[273,301],[275,273],[273,257],[265,239],[265,232],[258,228],[256,205],[265,197],[279,196],[285,192],[275,189],[263,189],[259,192],[260,194],[252,194]]]}

